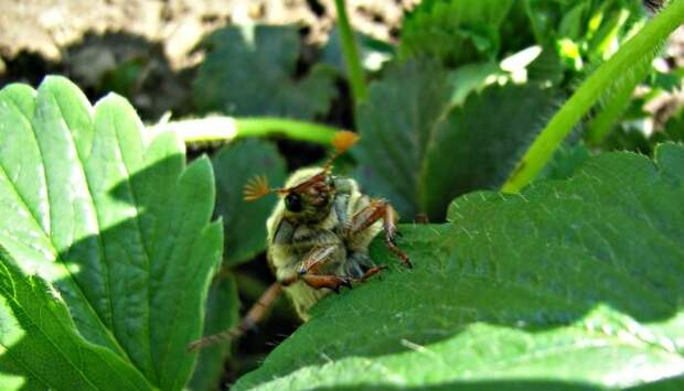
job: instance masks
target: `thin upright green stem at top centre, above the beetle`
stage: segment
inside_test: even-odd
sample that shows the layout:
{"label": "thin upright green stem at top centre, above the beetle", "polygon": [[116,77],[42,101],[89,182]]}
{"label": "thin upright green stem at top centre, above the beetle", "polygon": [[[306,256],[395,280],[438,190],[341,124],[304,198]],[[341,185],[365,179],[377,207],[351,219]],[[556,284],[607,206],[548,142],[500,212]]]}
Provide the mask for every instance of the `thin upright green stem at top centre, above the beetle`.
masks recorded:
{"label": "thin upright green stem at top centre, above the beetle", "polygon": [[342,41],[344,65],[346,66],[348,77],[352,85],[354,104],[357,105],[366,96],[366,84],[359,56],[359,47],[356,46],[354,32],[349,24],[344,0],[335,0],[335,8],[338,10],[338,29],[340,30],[340,40]]}

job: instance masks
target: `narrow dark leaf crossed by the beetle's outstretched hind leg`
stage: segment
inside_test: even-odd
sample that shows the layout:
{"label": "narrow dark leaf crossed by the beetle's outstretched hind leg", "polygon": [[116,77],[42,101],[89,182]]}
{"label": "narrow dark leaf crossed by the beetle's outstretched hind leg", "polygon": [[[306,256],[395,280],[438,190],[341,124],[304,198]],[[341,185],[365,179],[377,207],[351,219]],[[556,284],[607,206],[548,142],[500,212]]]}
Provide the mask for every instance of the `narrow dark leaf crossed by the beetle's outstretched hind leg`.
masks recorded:
{"label": "narrow dark leaf crossed by the beetle's outstretched hind leg", "polygon": [[[214,279],[206,300],[204,335],[214,335],[234,327],[239,314],[237,308],[237,284],[231,275]],[[213,391],[220,389],[224,361],[231,352],[231,341],[210,346],[200,351],[197,365],[190,380],[189,389],[193,391]]]}

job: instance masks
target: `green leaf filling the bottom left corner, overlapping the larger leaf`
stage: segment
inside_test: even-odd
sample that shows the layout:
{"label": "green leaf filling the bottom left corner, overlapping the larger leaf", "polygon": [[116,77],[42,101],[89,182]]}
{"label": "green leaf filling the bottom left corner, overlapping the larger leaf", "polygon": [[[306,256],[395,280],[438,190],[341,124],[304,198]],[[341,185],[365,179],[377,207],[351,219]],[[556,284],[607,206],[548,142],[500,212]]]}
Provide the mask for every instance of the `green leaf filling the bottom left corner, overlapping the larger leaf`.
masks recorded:
{"label": "green leaf filling the bottom left corner, overlapping the larger leaf", "polygon": [[151,389],[130,362],[78,335],[57,291],[23,274],[1,247],[0,330],[3,390]]}

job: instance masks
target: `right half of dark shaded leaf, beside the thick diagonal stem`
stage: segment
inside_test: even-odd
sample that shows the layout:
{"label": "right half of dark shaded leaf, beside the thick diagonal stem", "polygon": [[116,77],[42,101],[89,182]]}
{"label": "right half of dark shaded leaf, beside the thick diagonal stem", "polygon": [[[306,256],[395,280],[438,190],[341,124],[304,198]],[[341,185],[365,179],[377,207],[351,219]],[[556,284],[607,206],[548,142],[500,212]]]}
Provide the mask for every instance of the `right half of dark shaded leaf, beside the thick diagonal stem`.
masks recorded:
{"label": "right half of dark shaded leaf, beside the thick diagonal stem", "polygon": [[421,165],[421,210],[442,220],[456,196],[499,187],[555,100],[554,90],[534,84],[492,86],[450,110],[435,126]]}

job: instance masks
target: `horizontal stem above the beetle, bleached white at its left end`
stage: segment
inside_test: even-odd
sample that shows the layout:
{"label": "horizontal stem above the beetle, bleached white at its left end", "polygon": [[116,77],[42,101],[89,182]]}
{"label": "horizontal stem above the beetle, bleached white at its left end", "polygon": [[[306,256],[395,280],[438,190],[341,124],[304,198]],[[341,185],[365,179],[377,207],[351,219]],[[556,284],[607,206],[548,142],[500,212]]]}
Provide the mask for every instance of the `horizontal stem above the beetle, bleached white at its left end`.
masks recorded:
{"label": "horizontal stem above the beetle, bleached white at its left end", "polygon": [[207,117],[156,124],[152,132],[172,131],[183,141],[231,142],[247,137],[282,135],[291,140],[330,145],[336,131],[325,124],[277,117]]}

